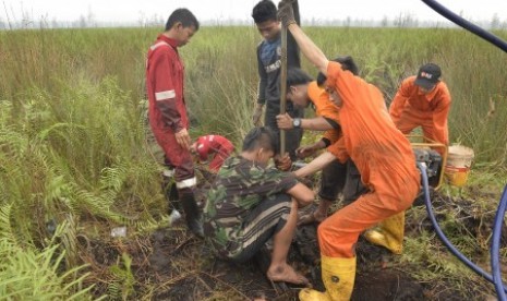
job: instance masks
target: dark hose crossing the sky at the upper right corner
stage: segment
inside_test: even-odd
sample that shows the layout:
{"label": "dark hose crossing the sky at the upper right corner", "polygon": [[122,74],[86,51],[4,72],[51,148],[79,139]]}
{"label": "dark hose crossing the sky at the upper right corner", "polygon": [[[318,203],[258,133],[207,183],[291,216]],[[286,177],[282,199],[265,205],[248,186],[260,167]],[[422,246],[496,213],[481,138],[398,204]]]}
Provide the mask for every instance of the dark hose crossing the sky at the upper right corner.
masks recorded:
{"label": "dark hose crossing the sky at the upper right corner", "polygon": [[[494,34],[481,28],[480,26],[471,23],[468,20],[462,19],[461,16],[457,15],[456,13],[449,11],[447,8],[438,3],[434,0],[421,0],[426,5],[432,8],[435,12],[442,14],[444,17],[449,20],[450,22],[463,27],[464,29],[482,37],[483,39],[490,41],[491,44],[495,45],[496,47],[500,48],[505,52],[507,52],[507,41],[503,40],[502,38],[495,36]],[[479,3],[479,2],[478,2]]]}

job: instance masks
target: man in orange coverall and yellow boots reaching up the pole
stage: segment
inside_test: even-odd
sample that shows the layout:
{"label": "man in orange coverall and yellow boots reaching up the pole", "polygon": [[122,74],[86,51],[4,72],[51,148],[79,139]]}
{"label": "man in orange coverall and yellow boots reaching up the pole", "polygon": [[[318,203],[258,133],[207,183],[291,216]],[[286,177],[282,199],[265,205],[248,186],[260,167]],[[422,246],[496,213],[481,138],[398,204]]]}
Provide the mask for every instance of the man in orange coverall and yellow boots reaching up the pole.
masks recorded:
{"label": "man in orange coverall and yellow boots reaching up the pole", "polygon": [[[336,212],[318,227],[322,279],[325,292],[300,291],[300,300],[349,300],[355,279],[355,250],[359,234],[411,206],[420,188],[420,174],[410,142],[390,120],[381,91],[338,62],[329,62],[323,51],[293,21],[290,0],[279,3],[279,17],[303,55],[327,76],[326,91],[340,108],[343,146],[370,192]],[[306,176],[322,169],[341,152],[331,145],[311,164],[295,171]],[[390,242],[390,237],[384,239]]]}

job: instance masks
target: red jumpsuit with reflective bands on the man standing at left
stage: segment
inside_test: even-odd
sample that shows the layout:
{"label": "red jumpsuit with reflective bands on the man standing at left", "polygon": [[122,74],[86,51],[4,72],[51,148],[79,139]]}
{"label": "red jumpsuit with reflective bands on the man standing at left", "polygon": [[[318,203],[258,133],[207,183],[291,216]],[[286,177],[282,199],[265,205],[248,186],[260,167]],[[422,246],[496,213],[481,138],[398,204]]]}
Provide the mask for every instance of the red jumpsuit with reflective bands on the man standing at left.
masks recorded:
{"label": "red jumpsuit with reflective bands on the man standing at left", "polygon": [[178,189],[186,189],[196,184],[196,178],[190,150],[182,148],[174,135],[189,129],[183,97],[184,67],[177,46],[173,39],[164,35],[157,37],[146,60],[146,88],[149,124],[155,139],[168,164],[174,167]]}

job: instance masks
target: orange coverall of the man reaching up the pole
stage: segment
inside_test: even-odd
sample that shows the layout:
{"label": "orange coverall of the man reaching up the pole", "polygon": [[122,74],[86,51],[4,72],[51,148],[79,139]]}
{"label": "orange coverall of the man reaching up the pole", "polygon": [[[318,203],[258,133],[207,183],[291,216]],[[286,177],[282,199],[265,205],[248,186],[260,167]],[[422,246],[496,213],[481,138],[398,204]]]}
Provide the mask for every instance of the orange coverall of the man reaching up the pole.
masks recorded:
{"label": "orange coverall of the man reaching up the pole", "polygon": [[327,149],[338,157],[345,145],[370,192],[325,219],[318,242],[323,255],[350,258],[362,231],[410,207],[420,174],[410,142],[393,123],[378,88],[337,62],[328,64],[327,84],[341,98],[343,131],[343,143]]}

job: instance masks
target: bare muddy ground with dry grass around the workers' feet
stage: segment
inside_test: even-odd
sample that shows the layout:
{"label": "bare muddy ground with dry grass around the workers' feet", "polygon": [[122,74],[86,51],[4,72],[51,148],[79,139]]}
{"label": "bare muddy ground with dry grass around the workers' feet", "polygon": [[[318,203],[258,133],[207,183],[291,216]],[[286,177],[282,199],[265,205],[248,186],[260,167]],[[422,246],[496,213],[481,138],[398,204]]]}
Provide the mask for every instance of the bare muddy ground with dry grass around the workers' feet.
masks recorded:
{"label": "bare muddy ground with dry grass around the workers' feet", "polygon": [[[490,197],[493,200],[492,195]],[[462,222],[462,227],[452,234],[476,240],[479,245],[471,260],[483,262],[482,267],[488,270],[488,262],[485,261],[488,248],[480,244],[491,234],[494,212],[484,214],[475,207],[473,200],[440,193],[435,193],[432,202],[437,219],[446,220],[450,213]],[[492,202],[497,203],[498,200]],[[406,237],[418,237],[423,230],[432,232],[433,226],[424,206],[413,207],[407,213]],[[315,234],[315,225],[298,230],[290,263],[304,272],[314,288],[324,290]],[[436,237],[430,239],[432,244],[439,245],[443,254],[448,254]],[[87,244],[92,254],[83,258],[90,264],[89,269],[97,277],[94,288],[97,297],[110,293],[111,282],[117,281],[126,297],[124,299],[129,300],[298,300],[298,289],[274,287],[266,279],[263,267],[267,255],[259,255],[244,265],[216,260],[202,240],[186,231],[184,222],[157,229],[148,237],[97,240]],[[118,281],[118,275],[111,273],[113,265],[126,269],[120,260],[123,253],[132,258],[130,268],[135,280],[130,287]],[[370,244],[362,237],[357,255],[352,300],[496,300],[493,285],[482,279],[463,280],[466,282],[460,287],[445,278],[418,280],[412,275],[420,275],[417,272],[428,268],[427,263],[407,263],[384,248]]]}

